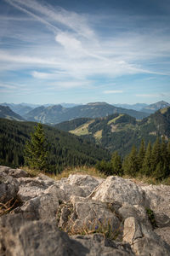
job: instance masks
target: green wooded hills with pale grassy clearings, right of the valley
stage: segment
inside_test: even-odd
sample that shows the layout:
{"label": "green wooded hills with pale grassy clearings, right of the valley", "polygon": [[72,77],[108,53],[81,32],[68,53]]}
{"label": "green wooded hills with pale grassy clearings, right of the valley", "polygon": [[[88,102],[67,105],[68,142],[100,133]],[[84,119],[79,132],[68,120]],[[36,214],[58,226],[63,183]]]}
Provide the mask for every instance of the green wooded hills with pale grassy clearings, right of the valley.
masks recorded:
{"label": "green wooded hills with pale grassy clearings, right of the valley", "polygon": [[138,147],[142,138],[146,143],[155,142],[157,136],[170,138],[170,108],[158,110],[140,121],[126,113],[114,113],[105,118],[74,119],[55,127],[125,155],[133,144]]}

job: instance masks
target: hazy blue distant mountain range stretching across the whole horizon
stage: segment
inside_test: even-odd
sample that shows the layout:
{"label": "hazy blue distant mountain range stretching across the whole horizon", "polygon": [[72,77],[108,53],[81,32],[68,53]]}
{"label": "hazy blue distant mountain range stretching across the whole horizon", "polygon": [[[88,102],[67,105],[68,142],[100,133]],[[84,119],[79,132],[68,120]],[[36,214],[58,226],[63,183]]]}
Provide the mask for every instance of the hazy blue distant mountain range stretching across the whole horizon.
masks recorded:
{"label": "hazy blue distant mountain range stretching across the whole horizon", "polygon": [[[26,119],[29,121],[42,122],[43,124],[55,125],[60,122],[77,119],[77,118],[98,118],[111,115],[113,113],[127,113],[136,119],[143,119],[155,113],[160,108],[170,106],[167,102],[156,102],[155,104],[146,105],[137,103],[134,105],[118,104],[124,108],[118,108],[105,102],[92,102],[86,105],[77,105],[74,103],[61,103],[59,105],[46,104],[43,106],[27,103],[2,103],[1,106],[9,107],[14,113],[3,113],[7,111],[2,109],[1,117],[7,119]],[[130,109],[131,108],[131,109]],[[132,109],[133,108],[133,109]],[[136,110],[135,110],[136,109]],[[142,109],[142,111],[137,111]],[[16,116],[19,114],[20,117]]]}

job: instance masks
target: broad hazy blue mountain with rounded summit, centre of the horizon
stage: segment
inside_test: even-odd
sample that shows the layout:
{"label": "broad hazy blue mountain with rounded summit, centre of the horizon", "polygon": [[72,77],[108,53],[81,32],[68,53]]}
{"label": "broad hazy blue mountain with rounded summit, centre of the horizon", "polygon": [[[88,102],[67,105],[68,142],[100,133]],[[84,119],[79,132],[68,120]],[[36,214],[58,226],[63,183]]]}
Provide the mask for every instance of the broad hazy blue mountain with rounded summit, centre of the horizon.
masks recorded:
{"label": "broad hazy blue mountain with rounded summit, centre of the horizon", "polygon": [[61,105],[51,107],[39,107],[31,110],[24,117],[29,121],[38,121],[46,124],[58,124],[77,118],[97,118],[110,115],[112,113],[127,113],[137,119],[143,119],[148,116],[147,113],[141,113],[133,109],[116,108],[105,102],[88,103],[87,105],[74,108],[63,108]]}

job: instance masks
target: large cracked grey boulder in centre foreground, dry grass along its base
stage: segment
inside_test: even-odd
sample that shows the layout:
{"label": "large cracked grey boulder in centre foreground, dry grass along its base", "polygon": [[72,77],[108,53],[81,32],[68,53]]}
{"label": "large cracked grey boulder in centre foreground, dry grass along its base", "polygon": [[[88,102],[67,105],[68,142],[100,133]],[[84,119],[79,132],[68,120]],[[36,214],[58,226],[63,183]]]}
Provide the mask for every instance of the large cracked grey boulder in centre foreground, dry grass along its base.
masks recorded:
{"label": "large cracked grey boulder in centre foreground, dry grass along its base", "polygon": [[[60,212],[60,213],[59,213]],[[72,196],[71,203],[65,204],[57,213],[59,227],[75,234],[84,230],[104,232],[111,230],[112,236],[119,233],[120,220],[106,203]]]}

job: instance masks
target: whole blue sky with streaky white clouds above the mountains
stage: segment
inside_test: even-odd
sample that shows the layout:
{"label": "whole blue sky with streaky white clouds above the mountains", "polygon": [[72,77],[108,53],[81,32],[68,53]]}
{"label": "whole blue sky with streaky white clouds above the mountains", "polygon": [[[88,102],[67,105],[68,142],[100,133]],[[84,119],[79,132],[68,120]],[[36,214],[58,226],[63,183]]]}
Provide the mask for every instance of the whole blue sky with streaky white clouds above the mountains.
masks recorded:
{"label": "whole blue sky with streaky white clouds above the mountains", "polygon": [[0,102],[170,102],[169,0],[0,0]]}

